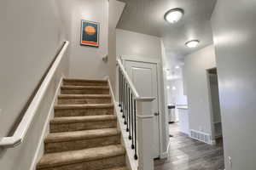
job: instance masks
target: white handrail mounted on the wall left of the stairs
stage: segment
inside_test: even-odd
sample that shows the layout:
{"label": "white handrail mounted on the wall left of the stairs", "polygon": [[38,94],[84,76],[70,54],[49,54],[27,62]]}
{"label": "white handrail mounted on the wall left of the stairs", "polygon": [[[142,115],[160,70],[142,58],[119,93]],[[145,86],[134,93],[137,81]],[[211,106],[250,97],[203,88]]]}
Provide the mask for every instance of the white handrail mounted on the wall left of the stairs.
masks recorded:
{"label": "white handrail mounted on the wall left of the stairs", "polygon": [[13,134],[13,136],[3,137],[0,140],[0,147],[12,148],[12,147],[15,147],[16,145],[19,145],[20,143],[22,143],[22,141],[25,139],[26,132],[27,132],[28,128],[30,127],[30,125],[32,124],[33,118],[36,115],[36,112],[38,111],[38,107],[39,107],[42,99],[44,98],[44,94],[46,93],[47,88],[49,87],[49,82],[54,77],[55,71],[61,63],[61,59],[63,58],[63,56],[67,50],[68,44],[69,44],[69,42],[66,41],[64,43],[63,47],[61,48],[60,53],[56,56],[56,59],[55,59],[53,65],[51,65],[46,77],[44,78],[44,81],[42,82],[40,88],[38,89],[37,94],[35,94],[34,98],[32,99],[32,102],[28,106],[24,116],[22,117],[22,119],[20,121],[20,124],[18,125],[18,127],[15,130],[15,133]]}

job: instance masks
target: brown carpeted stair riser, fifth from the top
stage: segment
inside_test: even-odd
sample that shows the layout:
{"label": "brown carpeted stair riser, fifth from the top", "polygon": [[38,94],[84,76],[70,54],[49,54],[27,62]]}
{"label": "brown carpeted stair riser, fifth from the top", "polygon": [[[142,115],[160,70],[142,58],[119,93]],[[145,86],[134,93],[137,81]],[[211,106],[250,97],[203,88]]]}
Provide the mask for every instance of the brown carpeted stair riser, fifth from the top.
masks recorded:
{"label": "brown carpeted stair riser, fifth from the top", "polygon": [[99,122],[75,122],[75,123],[58,123],[50,124],[50,133],[73,132],[79,130],[91,130],[101,128],[116,127],[116,120],[99,121]]}

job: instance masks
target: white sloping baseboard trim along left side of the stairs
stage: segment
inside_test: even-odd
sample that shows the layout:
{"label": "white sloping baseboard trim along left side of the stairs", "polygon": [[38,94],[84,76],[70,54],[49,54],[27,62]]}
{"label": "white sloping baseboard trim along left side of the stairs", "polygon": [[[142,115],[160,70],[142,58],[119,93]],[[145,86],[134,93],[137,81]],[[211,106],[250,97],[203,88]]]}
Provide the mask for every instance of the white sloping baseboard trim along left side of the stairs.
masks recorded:
{"label": "white sloping baseboard trim along left side of the stairs", "polygon": [[57,85],[52,103],[49,107],[49,113],[48,113],[48,116],[46,118],[46,121],[44,122],[43,132],[42,132],[42,135],[39,139],[38,148],[35,152],[35,155],[33,156],[32,164],[31,164],[31,167],[29,168],[30,170],[35,170],[36,169],[39,158],[41,156],[43,156],[43,154],[44,154],[44,138],[49,133],[49,120],[50,120],[51,116],[53,116],[53,114],[54,114],[55,102],[57,101],[57,97],[61,92],[60,90],[61,90],[61,84],[62,84],[63,79],[64,79],[64,77],[62,75],[61,80]]}

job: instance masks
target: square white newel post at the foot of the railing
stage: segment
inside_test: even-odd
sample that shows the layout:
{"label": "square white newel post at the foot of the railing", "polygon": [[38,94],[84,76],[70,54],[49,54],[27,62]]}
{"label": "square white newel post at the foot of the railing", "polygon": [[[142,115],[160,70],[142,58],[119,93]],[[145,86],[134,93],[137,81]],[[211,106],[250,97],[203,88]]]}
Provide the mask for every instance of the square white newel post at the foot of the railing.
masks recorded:
{"label": "square white newel post at the foot of the railing", "polygon": [[137,100],[138,170],[154,170],[153,100],[154,98]]}

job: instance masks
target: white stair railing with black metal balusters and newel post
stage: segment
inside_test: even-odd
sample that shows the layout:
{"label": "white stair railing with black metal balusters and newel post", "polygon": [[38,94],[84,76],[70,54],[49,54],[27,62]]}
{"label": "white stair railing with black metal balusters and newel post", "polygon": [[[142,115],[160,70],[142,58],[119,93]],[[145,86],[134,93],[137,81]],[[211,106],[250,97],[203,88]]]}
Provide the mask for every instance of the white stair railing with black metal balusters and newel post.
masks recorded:
{"label": "white stair railing with black metal balusters and newel post", "polygon": [[153,170],[153,117],[152,101],[155,97],[142,97],[137,93],[131,78],[117,59],[119,83],[119,108],[129,133],[134,159],[139,170]]}

